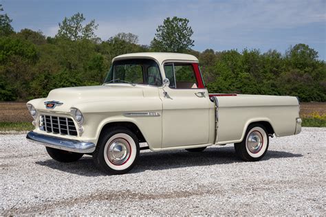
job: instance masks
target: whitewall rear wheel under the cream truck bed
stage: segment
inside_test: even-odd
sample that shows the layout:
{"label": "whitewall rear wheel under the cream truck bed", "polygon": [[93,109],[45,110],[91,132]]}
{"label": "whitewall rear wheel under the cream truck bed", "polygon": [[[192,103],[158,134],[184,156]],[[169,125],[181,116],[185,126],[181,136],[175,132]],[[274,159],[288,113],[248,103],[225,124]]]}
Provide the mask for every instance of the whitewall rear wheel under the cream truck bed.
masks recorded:
{"label": "whitewall rear wheel under the cream truck bed", "polygon": [[268,133],[265,126],[252,124],[248,126],[243,141],[235,144],[235,152],[243,161],[259,161],[268,150]]}

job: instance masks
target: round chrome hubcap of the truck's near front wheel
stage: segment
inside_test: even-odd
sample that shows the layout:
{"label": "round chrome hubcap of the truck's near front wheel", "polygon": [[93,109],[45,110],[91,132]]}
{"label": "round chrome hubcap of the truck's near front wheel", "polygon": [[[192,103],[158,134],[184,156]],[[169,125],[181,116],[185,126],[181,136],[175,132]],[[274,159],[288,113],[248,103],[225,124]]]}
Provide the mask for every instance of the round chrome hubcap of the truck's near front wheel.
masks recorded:
{"label": "round chrome hubcap of the truck's near front wheel", "polygon": [[109,161],[115,165],[122,165],[130,157],[131,148],[127,140],[118,138],[111,141],[107,149]]}

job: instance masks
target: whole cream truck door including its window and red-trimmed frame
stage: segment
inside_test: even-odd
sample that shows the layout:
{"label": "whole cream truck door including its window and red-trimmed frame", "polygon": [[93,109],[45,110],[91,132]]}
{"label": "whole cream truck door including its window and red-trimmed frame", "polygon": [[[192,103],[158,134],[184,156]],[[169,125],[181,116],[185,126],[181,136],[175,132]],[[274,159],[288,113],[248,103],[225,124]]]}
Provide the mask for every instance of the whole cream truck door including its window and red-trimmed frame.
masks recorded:
{"label": "whole cream truck door including its window and red-trimmed frame", "polygon": [[210,100],[198,64],[169,62],[164,72],[170,85],[160,89],[162,148],[207,144]]}

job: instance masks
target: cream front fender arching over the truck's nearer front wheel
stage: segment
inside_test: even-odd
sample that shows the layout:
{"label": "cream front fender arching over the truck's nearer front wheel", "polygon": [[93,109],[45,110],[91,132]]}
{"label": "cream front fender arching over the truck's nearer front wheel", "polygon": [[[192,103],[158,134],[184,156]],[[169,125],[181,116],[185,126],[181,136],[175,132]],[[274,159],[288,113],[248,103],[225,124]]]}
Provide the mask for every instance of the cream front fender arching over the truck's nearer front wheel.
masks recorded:
{"label": "cream front fender arching over the truck's nearer front wheel", "polygon": [[[74,104],[83,115],[84,133],[95,144],[102,128],[113,122],[131,122],[138,126],[150,148],[162,145],[162,101],[157,97],[104,100]],[[127,117],[125,113],[157,113],[157,116]]]}

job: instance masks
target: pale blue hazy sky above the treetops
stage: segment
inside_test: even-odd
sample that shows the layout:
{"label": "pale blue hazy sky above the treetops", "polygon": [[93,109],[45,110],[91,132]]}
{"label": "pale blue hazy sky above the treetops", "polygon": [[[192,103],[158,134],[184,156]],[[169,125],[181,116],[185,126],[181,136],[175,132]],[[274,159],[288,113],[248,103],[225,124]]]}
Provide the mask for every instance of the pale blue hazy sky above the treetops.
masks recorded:
{"label": "pale blue hazy sky above the treetops", "polygon": [[41,30],[54,36],[65,16],[81,12],[98,23],[96,34],[107,40],[118,32],[139,36],[149,45],[157,25],[167,16],[187,18],[198,51],[212,48],[277,49],[306,43],[326,60],[326,0],[230,1],[104,1],[104,0],[0,0],[13,19],[14,30]]}

